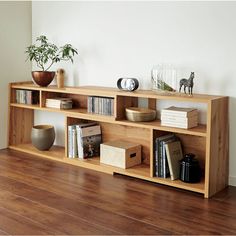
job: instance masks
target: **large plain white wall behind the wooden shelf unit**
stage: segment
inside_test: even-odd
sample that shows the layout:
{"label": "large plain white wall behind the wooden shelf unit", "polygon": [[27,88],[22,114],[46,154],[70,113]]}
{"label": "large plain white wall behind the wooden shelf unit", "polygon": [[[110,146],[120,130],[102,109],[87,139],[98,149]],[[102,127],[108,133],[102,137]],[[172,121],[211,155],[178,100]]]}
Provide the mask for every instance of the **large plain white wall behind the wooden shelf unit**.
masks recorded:
{"label": "large plain white wall behind the wooden shelf unit", "polygon": [[[150,88],[150,70],[172,63],[194,91],[230,96],[230,183],[236,185],[236,2],[33,2],[33,39],[45,34],[79,50],[67,85],[115,86],[120,76]],[[38,121],[48,120],[46,114]]]}

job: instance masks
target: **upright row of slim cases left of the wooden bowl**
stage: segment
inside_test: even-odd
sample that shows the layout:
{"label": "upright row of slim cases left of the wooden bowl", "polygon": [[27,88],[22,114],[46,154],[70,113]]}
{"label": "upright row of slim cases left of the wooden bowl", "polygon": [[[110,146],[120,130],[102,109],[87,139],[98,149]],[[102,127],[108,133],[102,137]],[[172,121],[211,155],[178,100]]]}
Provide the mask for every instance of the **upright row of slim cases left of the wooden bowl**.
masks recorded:
{"label": "upright row of slim cases left of the wooden bowl", "polygon": [[88,112],[108,116],[114,115],[114,98],[89,96]]}

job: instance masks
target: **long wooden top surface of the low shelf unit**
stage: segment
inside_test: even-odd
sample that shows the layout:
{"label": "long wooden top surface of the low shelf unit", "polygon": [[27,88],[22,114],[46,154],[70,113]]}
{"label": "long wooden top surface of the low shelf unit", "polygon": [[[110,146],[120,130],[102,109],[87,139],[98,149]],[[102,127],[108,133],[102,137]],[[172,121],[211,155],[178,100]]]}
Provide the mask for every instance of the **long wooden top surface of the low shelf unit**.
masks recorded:
{"label": "long wooden top surface of the low shelf unit", "polygon": [[136,90],[134,92],[127,92],[119,90],[118,88],[112,87],[101,87],[101,86],[79,86],[79,87],[64,87],[57,88],[55,85],[50,85],[48,87],[39,87],[38,85],[30,82],[22,83],[12,83],[11,88],[15,89],[29,89],[36,91],[48,91],[48,92],[57,92],[57,93],[71,93],[71,94],[81,94],[81,95],[95,95],[95,96],[126,96],[126,97],[141,97],[141,98],[153,98],[153,99],[163,99],[163,100],[179,100],[179,101],[188,101],[188,102],[209,102],[215,99],[223,98],[224,96],[217,95],[206,95],[206,94],[193,94],[188,96],[184,93],[172,93],[172,94],[163,94],[158,93],[153,90]]}

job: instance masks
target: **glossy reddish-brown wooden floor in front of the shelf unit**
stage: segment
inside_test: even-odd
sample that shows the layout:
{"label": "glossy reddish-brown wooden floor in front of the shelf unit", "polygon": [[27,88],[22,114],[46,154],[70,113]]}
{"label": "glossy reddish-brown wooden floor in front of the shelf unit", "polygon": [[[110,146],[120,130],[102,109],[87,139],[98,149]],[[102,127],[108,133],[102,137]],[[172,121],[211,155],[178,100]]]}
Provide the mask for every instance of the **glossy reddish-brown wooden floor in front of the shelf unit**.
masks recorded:
{"label": "glossy reddish-brown wooden floor in front of the shelf unit", "polygon": [[0,151],[0,234],[236,234],[236,188],[211,199]]}

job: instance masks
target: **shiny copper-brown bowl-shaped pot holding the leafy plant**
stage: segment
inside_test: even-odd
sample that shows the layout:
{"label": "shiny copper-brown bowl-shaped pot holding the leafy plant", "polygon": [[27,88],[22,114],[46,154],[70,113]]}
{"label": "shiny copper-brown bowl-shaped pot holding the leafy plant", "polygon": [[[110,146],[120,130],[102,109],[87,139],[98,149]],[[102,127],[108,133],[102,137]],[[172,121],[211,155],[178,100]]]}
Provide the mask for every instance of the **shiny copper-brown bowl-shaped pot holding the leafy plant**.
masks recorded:
{"label": "shiny copper-brown bowl-shaped pot holding the leafy plant", "polygon": [[32,71],[31,74],[34,82],[41,87],[47,87],[55,77],[54,71]]}

